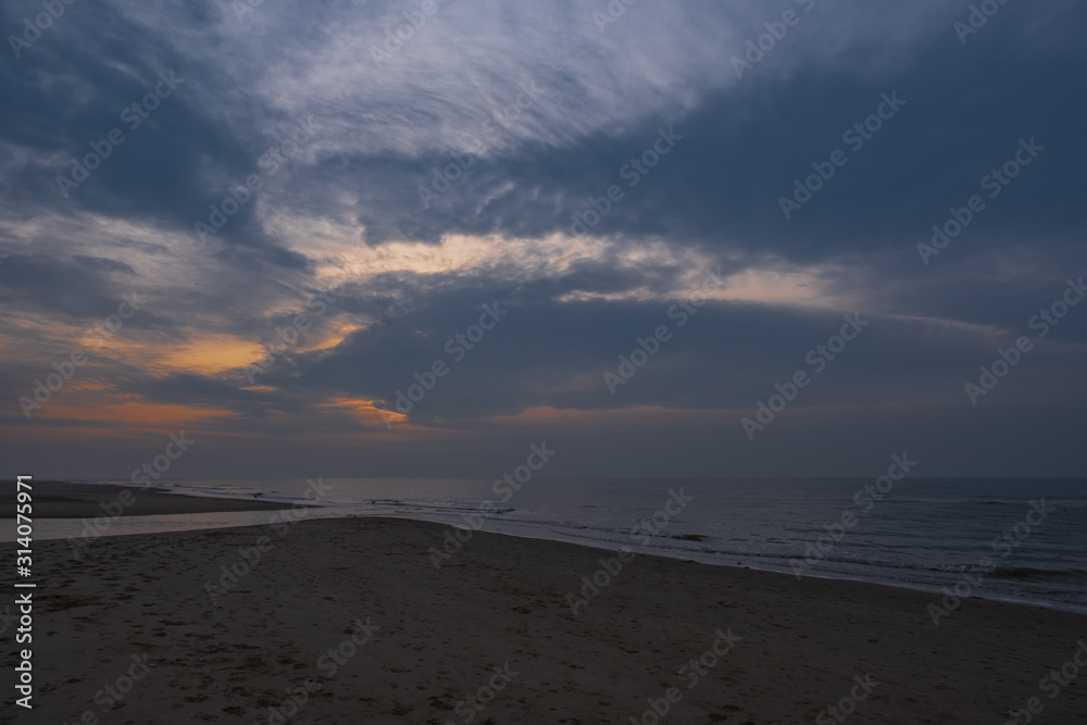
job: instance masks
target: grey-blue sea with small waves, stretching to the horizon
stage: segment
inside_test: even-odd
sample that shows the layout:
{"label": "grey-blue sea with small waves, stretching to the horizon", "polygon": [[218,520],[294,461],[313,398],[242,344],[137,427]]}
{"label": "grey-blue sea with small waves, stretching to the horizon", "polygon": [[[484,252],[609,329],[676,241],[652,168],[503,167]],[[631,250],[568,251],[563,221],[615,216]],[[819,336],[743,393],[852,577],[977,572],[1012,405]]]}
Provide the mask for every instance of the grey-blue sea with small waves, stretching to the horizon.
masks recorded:
{"label": "grey-blue sea with small waves, stretching to the horizon", "polygon": [[[602,551],[875,582],[932,591],[937,605],[951,592],[1087,613],[1087,479],[905,478],[882,486],[887,490],[871,478],[533,477],[230,478],[157,488],[317,504],[299,509],[302,518],[416,518]],[[107,534],[260,525],[275,514],[123,516]],[[84,528],[79,520],[37,520],[35,537],[77,537]],[[14,530],[0,534],[14,539]],[[574,583],[579,574],[572,573]]]}

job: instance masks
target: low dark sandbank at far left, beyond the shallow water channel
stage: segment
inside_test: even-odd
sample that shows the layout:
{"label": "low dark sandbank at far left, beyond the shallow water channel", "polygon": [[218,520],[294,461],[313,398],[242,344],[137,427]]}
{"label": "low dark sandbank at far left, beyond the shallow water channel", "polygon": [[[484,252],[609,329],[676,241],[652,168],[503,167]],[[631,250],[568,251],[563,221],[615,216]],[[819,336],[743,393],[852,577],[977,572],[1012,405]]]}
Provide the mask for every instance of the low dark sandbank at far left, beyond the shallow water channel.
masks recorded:
{"label": "low dark sandbank at far left, beyond the shallow water channel", "polygon": [[[51,480],[33,482],[35,518],[86,518],[101,513],[118,512],[121,516],[152,516],[210,511],[262,511],[285,509],[289,504],[242,499],[210,499],[177,496],[161,489],[140,490],[136,487],[100,484],[65,484]],[[122,499],[121,497],[125,498]],[[132,503],[128,503],[128,497]],[[117,504],[122,505],[117,505]],[[111,508],[112,507],[112,508]],[[0,516],[15,517],[15,487],[0,491]]]}

